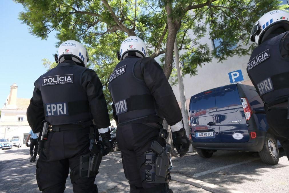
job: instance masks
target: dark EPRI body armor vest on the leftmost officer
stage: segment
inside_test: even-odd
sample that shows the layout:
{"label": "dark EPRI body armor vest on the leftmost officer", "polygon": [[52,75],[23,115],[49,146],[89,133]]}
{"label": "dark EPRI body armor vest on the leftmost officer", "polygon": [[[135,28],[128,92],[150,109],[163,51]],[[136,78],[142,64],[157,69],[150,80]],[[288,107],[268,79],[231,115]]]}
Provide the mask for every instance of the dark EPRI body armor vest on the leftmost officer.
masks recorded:
{"label": "dark EPRI body armor vest on the leftmost officer", "polygon": [[60,63],[38,79],[45,120],[62,125],[91,120],[86,91],[81,86],[85,67]]}

